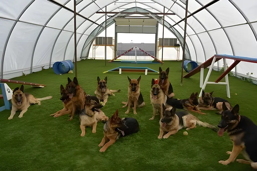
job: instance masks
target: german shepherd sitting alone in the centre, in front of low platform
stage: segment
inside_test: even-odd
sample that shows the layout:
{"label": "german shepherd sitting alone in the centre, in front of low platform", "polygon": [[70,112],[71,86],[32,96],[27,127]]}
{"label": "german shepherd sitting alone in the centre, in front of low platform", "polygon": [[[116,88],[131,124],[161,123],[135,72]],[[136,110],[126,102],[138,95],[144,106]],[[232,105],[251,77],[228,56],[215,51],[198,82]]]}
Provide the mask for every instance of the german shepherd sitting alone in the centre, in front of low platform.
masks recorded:
{"label": "german shepherd sitting alone in the centre, in front of low platform", "polygon": [[138,105],[138,107],[143,107],[145,105],[143,96],[140,92],[139,82],[141,80],[141,75],[137,80],[136,79],[131,80],[128,76],[128,80],[129,80],[128,103],[121,102],[122,104],[125,104],[125,106],[123,106],[122,108],[125,108],[126,106],[128,106],[128,109],[125,112],[126,114],[128,114],[129,110],[130,110],[130,107],[133,106],[134,114],[137,114],[136,113],[136,106]]}

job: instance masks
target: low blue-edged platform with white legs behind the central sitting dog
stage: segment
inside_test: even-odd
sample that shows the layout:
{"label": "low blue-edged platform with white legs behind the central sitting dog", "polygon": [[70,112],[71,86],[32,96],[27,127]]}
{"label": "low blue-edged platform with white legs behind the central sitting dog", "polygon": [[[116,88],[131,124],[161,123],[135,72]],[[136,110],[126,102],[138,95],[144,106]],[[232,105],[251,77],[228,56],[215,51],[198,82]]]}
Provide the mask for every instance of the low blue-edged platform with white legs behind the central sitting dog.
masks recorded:
{"label": "low blue-edged platform with white legs behind the central sitting dog", "polygon": [[110,71],[119,71],[119,74],[121,74],[121,71],[127,71],[127,72],[145,72],[145,75],[147,75],[148,72],[154,72],[154,73],[158,73],[158,71],[153,70],[151,68],[147,68],[147,67],[130,67],[130,66],[119,66],[118,68],[113,68],[111,70],[105,71],[103,73],[107,73]]}

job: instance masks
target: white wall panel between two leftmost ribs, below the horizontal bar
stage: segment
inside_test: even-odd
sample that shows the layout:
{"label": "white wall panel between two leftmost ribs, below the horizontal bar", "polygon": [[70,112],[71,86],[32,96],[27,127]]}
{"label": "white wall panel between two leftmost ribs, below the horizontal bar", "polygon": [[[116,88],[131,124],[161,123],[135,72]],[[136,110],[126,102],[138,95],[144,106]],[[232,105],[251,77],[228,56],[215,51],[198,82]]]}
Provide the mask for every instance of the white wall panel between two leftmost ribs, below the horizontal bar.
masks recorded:
{"label": "white wall panel between two leftmost ribs, below the horizontal bar", "polygon": [[32,50],[41,29],[33,24],[16,24],[6,47],[4,72],[30,68]]}

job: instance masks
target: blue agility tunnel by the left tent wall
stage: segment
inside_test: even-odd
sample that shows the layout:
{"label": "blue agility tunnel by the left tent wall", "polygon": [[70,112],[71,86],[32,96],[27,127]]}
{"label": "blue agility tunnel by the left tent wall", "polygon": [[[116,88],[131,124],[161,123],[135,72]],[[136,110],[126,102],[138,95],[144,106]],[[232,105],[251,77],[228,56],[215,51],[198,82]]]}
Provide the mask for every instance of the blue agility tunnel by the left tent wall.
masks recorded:
{"label": "blue agility tunnel by the left tent wall", "polygon": [[73,63],[71,60],[58,61],[53,64],[53,72],[55,74],[65,74],[73,70]]}

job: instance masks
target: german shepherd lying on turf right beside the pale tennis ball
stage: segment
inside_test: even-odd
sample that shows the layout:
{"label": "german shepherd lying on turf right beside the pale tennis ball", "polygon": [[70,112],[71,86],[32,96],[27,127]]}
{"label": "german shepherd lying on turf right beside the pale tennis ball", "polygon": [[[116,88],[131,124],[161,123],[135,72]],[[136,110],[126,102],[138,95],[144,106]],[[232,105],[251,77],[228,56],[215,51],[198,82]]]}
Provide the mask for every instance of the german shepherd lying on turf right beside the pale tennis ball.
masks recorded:
{"label": "german shepherd lying on turf right beside the pale tennis ball", "polygon": [[[172,109],[166,108],[164,104],[162,104],[164,112],[163,117],[160,119],[160,134],[158,136],[161,138],[168,138],[170,135],[175,134],[178,130],[182,128],[186,128],[186,130],[190,130],[196,128],[196,124],[203,127],[208,127],[216,131],[216,127],[212,126],[206,122],[199,121],[197,117],[188,113],[187,111],[176,112],[176,108]],[[166,135],[163,136],[164,132],[167,132]]]}

